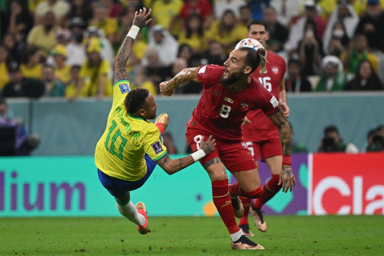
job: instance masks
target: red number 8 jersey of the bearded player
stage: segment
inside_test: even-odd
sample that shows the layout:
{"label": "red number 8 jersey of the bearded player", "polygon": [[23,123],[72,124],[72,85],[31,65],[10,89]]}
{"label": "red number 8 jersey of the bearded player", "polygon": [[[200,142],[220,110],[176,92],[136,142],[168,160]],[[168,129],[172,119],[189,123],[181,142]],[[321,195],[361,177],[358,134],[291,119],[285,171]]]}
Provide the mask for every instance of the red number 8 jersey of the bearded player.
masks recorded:
{"label": "red number 8 jersey of the bearded player", "polygon": [[220,83],[224,71],[224,66],[217,65],[199,68],[197,78],[203,84],[203,93],[187,126],[220,140],[241,141],[241,125],[248,111],[261,109],[265,115],[273,115],[280,105],[254,77],[247,88],[232,92]]}

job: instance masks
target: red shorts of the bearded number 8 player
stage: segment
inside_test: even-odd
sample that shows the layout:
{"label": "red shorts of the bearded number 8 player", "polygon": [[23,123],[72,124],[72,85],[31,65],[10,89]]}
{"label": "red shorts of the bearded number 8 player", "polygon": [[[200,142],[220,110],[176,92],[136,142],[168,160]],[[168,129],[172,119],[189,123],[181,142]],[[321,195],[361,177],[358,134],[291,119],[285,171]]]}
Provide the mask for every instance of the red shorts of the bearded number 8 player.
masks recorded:
{"label": "red shorts of the bearded number 8 player", "polygon": [[[187,142],[194,152],[200,149],[202,136],[204,136],[204,141],[209,138],[209,134],[207,133],[187,128]],[[208,160],[218,157],[231,173],[235,171],[248,171],[257,168],[257,165],[253,160],[252,153],[249,151],[245,141],[228,143],[220,141],[218,138],[215,139],[216,149],[199,160],[202,165]]]}

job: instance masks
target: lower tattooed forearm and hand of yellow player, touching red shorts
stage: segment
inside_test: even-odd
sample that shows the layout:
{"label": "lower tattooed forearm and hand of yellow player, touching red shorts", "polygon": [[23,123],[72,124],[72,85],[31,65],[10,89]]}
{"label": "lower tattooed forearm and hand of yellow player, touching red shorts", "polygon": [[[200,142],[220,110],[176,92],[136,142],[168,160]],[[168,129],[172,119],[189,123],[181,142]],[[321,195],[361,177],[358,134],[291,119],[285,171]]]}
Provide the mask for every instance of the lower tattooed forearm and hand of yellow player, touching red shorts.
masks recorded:
{"label": "lower tattooed forearm and hand of yellow player, touching red shorts", "polygon": [[[204,141],[204,136],[201,140],[200,149],[205,152],[205,155],[208,155],[212,151],[215,150],[216,142],[215,139],[212,139],[212,135],[209,136],[207,141]],[[195,163],[194,158],[189,155],[183,158],[170,159],[170,157],[165,155],[160,160],[156,161],[156,163],[169,175],[177,173],[178,171],[184,169],[187,166]]]}

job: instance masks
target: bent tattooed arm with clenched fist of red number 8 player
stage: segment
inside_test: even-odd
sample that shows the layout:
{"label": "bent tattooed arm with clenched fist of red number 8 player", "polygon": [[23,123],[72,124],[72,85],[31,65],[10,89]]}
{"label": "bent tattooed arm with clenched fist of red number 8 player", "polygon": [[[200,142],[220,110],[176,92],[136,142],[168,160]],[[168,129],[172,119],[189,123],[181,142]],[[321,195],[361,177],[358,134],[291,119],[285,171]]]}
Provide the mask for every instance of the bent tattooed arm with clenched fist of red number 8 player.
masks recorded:
{"label": "bent tattooed arm with clenched fist of red number 8 player", "polygon": [[176,86],[181,85],[182,83],[185,83],[190,80],[198,82],[199,81],[197,79],[198,69],[199,69],[198,67],[184,68],[177,75],[175,75],[175,77],[172,78],[171,80],[160,83],[160,92],[164,96],[171,96]]}

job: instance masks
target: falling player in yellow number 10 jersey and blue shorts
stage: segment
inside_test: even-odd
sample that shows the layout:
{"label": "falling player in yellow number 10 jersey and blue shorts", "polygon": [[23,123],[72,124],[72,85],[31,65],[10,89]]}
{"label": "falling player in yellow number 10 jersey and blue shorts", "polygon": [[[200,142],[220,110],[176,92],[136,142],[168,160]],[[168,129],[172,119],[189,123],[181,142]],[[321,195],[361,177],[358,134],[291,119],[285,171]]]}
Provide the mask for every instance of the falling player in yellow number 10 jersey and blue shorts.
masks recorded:
{"label": "falling player in yellow number 10 jersey and blue shorts", "polygon": [[101,184],[115,197],[119,213],[136,224],[140,234],[149,231],[147,209],[142,202],[134,206],[129,191],[140,188],[156,165],[171,175],[200,160],[216,146],[211,135],[207,141],[202,140],[199,151],[170,159],[161,138],[168,125],[167,114],[161,114],[156,125],[149,121],[156,117],[154,97],[147,89],[130,89],[126,63],[139,29],[152,20],[147,20],[150,14],[151,9],[147,13],[146,8],[136,12],[132,28],[116,57],[112,109],[95,151]]}

